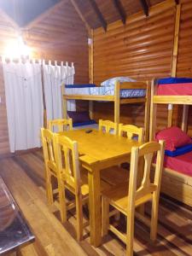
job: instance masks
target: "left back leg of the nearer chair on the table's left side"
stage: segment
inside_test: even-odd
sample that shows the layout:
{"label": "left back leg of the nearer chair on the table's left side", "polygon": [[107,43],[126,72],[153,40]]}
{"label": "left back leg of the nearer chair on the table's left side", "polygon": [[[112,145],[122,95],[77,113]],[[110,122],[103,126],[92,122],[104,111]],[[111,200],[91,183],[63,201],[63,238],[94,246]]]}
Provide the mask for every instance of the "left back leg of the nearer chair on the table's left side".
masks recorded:
{"label": "left back leg of the nearer chair on the table's left side", "polygon": [[61,223],[64,223],[67,221],[66,193],[65,193],[64,183],[59,179],[58,179],[58,190],[59,190]]}

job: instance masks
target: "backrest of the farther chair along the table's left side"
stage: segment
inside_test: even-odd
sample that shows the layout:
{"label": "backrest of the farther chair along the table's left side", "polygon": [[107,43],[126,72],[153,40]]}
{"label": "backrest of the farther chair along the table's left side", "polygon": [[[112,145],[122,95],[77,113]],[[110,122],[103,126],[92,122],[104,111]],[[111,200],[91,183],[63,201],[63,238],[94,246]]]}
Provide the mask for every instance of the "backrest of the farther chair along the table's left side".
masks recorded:
{"label": "backrest of the farther chair along the table's left side", "polygon": [[45,168],[56,172],[54,133],[49,129],[41,128],[42,145],[44,152]]}

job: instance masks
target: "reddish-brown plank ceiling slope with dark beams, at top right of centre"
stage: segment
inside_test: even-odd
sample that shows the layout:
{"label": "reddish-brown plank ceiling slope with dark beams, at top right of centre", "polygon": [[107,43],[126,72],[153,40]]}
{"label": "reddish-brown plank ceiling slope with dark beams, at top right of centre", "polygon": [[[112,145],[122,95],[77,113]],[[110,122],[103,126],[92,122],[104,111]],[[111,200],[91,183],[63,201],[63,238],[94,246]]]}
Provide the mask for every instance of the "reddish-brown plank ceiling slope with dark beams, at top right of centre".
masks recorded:
{"label": "reddish-brown plank ceiling slope with dark beams, at top right of centre", "polygon": [[84,20],[90,28],[102,26],[105,30],[108,24],[125,19],[129,15],[143,11],[148,16],[148,9],[166,0],[70,0],[75,3]]}

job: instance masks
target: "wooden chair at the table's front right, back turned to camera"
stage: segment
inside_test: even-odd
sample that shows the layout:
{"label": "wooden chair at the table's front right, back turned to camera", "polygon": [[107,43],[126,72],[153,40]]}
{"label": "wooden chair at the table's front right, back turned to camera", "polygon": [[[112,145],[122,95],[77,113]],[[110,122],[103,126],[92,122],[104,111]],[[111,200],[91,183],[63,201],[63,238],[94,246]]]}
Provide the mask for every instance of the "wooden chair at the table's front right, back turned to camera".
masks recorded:
{"label": "wooden chair at the table's front right, back turned to camera", "polygon": [[[150,170],[154,154],[157,153],[153,183],[150,181]],[[144,158],[143,181],[137,188],[137,172],[139,158]],[[160,198],[160,182],[164,160],[164,142],[145,143],[131,150],[130,180],[102,193],[102,234],[111,230],[126,244],[126,255],[133,255],[135,208],[152,201],[151,232],[152,240],[156,239],[158,207]],[[109,224],[109,205],[122,212],[127,217],[126,235],[122,234],[112,224]],[[144,217],[143,217],[144,218]]]}

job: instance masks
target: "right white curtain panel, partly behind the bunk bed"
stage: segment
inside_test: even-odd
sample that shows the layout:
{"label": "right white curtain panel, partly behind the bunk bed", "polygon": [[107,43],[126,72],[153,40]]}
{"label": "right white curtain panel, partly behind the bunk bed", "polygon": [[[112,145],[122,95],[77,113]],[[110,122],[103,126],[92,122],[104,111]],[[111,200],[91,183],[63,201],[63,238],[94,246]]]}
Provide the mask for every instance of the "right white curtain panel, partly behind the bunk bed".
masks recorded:
{"label": "right white curtain panel, partly behind the bunk bed", "polygon": [[[74,83],[74,66],[69,67],[68,64],[64,66],[61,62],[61,66],[51,65],[49,61],[48,65],[44,68],[44,95],[47,111],[47,119],[60,119],[62,118],[61,109],[61,84],[73,84]],[[67,110],[75,110],[75,102],[67,102]]]}

